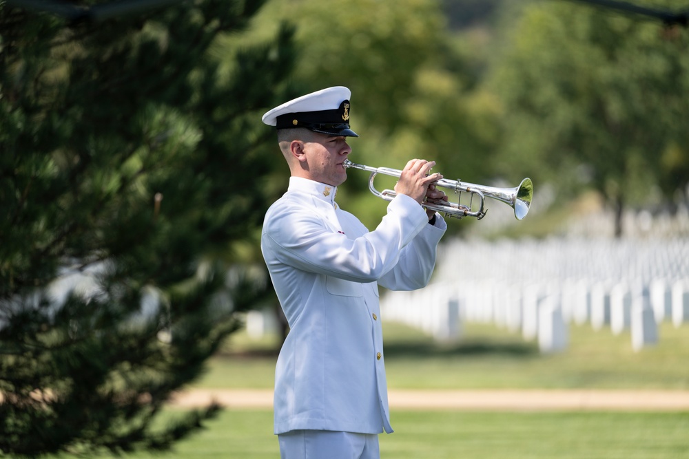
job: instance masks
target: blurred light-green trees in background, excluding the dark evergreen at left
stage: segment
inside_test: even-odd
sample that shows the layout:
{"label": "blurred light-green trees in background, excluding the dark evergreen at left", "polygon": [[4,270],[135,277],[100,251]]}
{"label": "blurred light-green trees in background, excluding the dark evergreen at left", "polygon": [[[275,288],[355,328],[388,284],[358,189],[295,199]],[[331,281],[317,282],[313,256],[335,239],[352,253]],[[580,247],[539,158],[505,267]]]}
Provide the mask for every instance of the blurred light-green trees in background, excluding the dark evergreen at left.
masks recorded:
{"label": "blurred light-green trees in background, excluding the dark evergreen at left", "polygon": [[[593,190],[618,235],[629,206],[686,202],[686,29],[555,0],[294,0],[269,3],[240,43],[282,21],[296,27],[296,94],[352,89],[355,162],[421,157],[446,178],[499,186],[529,176],[536,199],[554,185],[559,205]],[[384,202],[366,182],[351,171],[338,200],[375,227]]]}

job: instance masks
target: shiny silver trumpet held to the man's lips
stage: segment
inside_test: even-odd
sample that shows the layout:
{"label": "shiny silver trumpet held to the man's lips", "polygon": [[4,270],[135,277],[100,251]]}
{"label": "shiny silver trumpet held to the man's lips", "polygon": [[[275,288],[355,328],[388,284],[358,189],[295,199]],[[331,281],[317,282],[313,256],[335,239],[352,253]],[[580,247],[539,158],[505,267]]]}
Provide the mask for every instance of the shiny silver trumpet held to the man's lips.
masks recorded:
{"label": "shiny silver trumpet held to the man's lips", "polygon": [[[354,169],[370,172],[369,190],[371,190],[371,193],[378,196],[378,198],[391,201],[397,195],[393,190],[378,191],[376,186],[373,185],[373,180],[379,173],[399,178],[402,175],[402,171],[398,169],[389,169],[388,167],[364,166],[364,164],[356,164],[356,162],[351,162],[350,160],[345,160],[342,165],[345,166],[345,168],[353,167]],[[426,207],[426,209],[431,209],[447,217],[455,218],[476,217],[477,220],[481,220],[488,211],[488,209],[484,209],[485,200],[486,198],[491,198],[509,204],[509,206],[514,209],[517,220],[522,220],[526,217],[528,208],[531,206],[531,198],[533,198],[533,184],[530,178],[525,178],[519,186],[515,186],[514,188],[496,188],[494,186],[477,185],[461,182],[460,180],[447,180],[444,178],[438,180],[435,186],[453,190],[455,194],[459,195],[458,202],[455,204],[454,202],[446,202],[443,200],[426,200],[422,205]],[[462,193],[469,193],[469,205],[460,204],[459,201],[462,198]],[[474,197],[478,200],[476,203],[473,202]],[[473,210],[474,208],[477,209]]]}

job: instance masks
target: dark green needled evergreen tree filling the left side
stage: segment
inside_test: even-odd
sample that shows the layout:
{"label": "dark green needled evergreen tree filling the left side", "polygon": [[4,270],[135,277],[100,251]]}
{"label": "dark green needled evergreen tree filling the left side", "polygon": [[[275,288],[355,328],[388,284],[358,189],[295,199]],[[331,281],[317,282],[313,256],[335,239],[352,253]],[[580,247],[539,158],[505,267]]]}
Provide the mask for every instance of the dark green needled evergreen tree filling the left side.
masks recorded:
{"label": "dark green needled evergreen tree filling the left side", "polygon": [[2,453],[165,449],[216,412],[152,429],[269,295],[239,249],[269,202],[260,114],[284,100],[293,32],[222,78],[213,52],[261,3],[94,22],[0,2]]}

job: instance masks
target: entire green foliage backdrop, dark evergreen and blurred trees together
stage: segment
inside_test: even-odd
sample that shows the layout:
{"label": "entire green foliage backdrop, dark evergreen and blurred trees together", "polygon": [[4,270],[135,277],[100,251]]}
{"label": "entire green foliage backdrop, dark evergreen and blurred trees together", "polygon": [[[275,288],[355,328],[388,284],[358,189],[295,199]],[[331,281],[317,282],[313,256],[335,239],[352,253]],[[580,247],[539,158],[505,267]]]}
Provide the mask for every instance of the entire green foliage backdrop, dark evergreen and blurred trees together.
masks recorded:
{"label": "entire green foliage backdrop, dark evergreen and blurred trees together", "polygon": [[[590,190],[618,235],[628,206],[686,206],[685,28],[556,0],[203,0],[102,23],[14,3],[0,2],[0,451],[161,449],[213,414],[149,429],[236,312],[274,306],[257,240],[287,167],[260,116],[294,96],[352,89],[356,162],[529,175],[536,200],[550,185],[535,222]],[[338,202],[374,228],[385,203],[367,178],[351,171]],[[56,308],[68,275],[90,290]]]}

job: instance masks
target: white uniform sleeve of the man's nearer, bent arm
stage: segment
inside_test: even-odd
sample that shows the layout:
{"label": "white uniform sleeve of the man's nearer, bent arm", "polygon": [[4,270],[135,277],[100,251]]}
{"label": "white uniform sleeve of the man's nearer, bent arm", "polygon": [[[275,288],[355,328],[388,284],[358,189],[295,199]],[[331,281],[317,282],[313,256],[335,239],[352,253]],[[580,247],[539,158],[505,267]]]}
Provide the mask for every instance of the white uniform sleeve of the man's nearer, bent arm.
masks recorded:
{"label": "white uniform sleeve of the man's nearer, bent arm", "polygon": [[261,245],[267,263],[348,281],[371,282],[398,264],[402,249],[425,226],[429,226],[426,213],[405,195],[390,202],[387,215],[376,230],[356,239],[333,231],[315,209],[291,202],[269,211]]}

